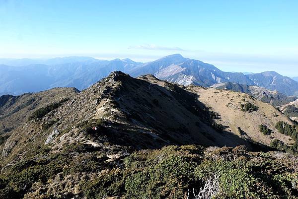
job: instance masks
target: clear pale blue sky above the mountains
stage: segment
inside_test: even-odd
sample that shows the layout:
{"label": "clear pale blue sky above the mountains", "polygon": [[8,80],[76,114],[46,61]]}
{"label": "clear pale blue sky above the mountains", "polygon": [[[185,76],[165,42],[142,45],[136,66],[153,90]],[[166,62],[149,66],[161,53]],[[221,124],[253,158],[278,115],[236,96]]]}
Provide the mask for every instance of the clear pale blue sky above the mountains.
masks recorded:
{"label": "clear pale blue sky above the mountains", "polygon": [[0,57],[169,54],[298,76],[298,0],[0,0]]}

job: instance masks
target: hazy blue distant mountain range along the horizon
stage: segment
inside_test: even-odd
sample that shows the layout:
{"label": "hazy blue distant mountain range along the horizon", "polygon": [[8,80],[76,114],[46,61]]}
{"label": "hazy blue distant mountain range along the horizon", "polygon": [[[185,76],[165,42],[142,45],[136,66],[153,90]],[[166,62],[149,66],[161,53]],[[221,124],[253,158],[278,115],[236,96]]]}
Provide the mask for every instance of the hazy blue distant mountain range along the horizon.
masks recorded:
{"label": "hazy blue distant mountain range along the horizon", "polygon": [[54,87],[82,90],[114,70],[121,70],[134,77],[149,73],[182,85],[209,87],[217,83],[233,82],[264,87],[286,95],[298,95],[298,82],[277,72],[224,72],[216,66],[184,58],[179,54],[149,63],[130,59],[106,61],[90,57],[66,57],[49,60],[0,59],[0,64],[0,95],[19,95]]}

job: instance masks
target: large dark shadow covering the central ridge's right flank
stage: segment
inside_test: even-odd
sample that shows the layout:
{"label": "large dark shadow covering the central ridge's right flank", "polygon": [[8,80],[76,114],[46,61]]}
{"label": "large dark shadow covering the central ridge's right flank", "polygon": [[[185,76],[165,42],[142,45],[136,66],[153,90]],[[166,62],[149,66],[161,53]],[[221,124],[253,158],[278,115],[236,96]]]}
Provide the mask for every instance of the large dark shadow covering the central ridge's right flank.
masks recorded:
{"label": "large dark shadow covering the central ridge's right flank", "polygon": [[[122,115],[114,115],[115,120],[99,131],[110,143],[136,149],[171,144],[246,145],[250,150],[270,149],[224,131],[224,126],[214,120],[215,113],[201,103],[196,94],[178,85],[159,81],[152,75],[135,79],[115,72],[113,78],[121,82],[112,99]],[[158,83],[152,83],[148,78],[156,79]],[[163,85],[158,85],[160,83]]]}

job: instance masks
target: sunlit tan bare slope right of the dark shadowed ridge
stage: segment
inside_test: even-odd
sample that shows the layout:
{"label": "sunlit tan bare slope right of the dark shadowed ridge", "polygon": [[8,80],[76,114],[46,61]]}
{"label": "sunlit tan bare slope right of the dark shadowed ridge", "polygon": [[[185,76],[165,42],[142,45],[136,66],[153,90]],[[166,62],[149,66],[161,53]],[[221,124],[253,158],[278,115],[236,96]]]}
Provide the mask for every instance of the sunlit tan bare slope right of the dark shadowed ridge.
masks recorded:
{"label": "sunlit tan bare slope right of the dark shadowed ridge", "polygon": [[[219,123],[228,126],[226,130],[265,145],[269,145],[273,138],[289,143],[289,137],[278,133],[275,125],[279,121],[285,121],[289,124],[293,123],[275,107],[256,100],[245,93],[197,86],[189,86],[187,90],[197,93],[201,102],[220,114],[221,121]],[[246,102],[257,106],[258,110],[250,113],[241,111],[240,105]],[[259,125],[266,125],[273,133],[271,135],[263,135],[259,132]],[[241,133],[238,131],[238,128],[242,130]]]}

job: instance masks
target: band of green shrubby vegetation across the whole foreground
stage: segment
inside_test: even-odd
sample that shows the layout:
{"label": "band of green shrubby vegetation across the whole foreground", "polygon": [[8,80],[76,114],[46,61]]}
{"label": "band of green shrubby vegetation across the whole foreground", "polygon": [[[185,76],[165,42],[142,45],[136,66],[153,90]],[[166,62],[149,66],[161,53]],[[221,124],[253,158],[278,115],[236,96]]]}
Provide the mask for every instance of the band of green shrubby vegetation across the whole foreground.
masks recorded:
{"label": "band of green shrubby vegetation across the whole foreground", "polygon": [[59,154],[41,148],[35,158],[5,168],[0,198],[193,199],[200,188],[213,189],[214,199],[298,197],[298,157],[282,152],[185,145],[120,153],[111,160],[87,144]]}

